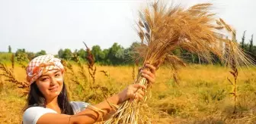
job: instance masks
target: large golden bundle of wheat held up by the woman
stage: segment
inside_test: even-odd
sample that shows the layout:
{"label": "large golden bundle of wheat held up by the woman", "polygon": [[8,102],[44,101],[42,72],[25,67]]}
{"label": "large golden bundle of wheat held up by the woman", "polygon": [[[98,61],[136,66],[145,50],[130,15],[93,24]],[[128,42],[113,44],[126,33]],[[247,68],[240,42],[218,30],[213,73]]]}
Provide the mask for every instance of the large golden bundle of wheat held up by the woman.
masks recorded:
{"label": "large golden bundle of wheat held up by the woman", "polygon": [[[251,60],[238,48],[238,44],[226,39],[228,33],[234,31],[223,20],[216,21],[215,14],[210,12],[211,4],[198,4],[190,8],[181,6],[167,8],[165,5],[155,2],[149,8],[141,11],[138,25],[138,35],[141,45],[136,48],[139,59],[146,63],[159,67],[164,61],[168,61],[174,70],[178,65],[185,66],[184,61],[173,54],[176,48],[181,48],[191,53],[198,54],[201,59],[211,63],[213,54],[219,57],[223,63],[241,66],[249,65]],[[217,23],[216,23],[217,22]],[[223,36],[225,39],[223,39]],[[219,46],[226,43],[223,52]],[[232,58],[232,59],[231,59]],[[147,70],[145,67],[142,69]],[[140,74],[134,83],[148,85]],[[144,101],[125,101],[117,112],[105,123],[151,123],[149,107]]]}

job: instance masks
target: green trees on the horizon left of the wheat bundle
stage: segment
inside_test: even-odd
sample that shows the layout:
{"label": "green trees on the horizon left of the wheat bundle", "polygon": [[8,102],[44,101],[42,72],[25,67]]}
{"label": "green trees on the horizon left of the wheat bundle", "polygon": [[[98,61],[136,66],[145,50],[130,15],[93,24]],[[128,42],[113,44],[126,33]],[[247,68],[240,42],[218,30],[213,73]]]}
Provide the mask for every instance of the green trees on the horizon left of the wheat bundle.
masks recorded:
{"label": "green trees on the horizon left of the wheat bundle", "polygon": [[[99,45],[94,45],[90,49],[91,54],[94,56],[94,61],[97,64],[104,64],[104,65],[126,65],[126,64],[133,64],[133,54],[134,48],[136,45],[139,45],[138,42],[133,42],[129,48],[123,48],[123,46],[114,43],[110,48],[101,49]],[[11,52],[11,46],[8,46],[8,52]],[[26,51],[24,48],[18,49],[14,56],[18,58],[18,60],[28,61],[33,59],[34,57],[44,55],[46,51],[41,50],[36,53]],[[86,61],[86,57],[88,52],[86,48],[75,49],[72,51],[69,48],[59,49],[58,54],[55,54],[55,57],[59,57],[63,60],[81,60]]]}

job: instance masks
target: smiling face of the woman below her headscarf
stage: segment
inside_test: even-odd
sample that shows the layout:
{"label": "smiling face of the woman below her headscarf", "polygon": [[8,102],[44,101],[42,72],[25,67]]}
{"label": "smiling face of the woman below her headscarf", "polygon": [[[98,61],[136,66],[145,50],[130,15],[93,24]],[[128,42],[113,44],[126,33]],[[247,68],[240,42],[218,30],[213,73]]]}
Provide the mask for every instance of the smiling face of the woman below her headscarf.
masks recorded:
{"label": "smiling face of the woman below her headscarf", "polygon": [[46,100],[53,99],[62,91],[63,76],[60,70],[49,70],[43,73],[36,83]]}

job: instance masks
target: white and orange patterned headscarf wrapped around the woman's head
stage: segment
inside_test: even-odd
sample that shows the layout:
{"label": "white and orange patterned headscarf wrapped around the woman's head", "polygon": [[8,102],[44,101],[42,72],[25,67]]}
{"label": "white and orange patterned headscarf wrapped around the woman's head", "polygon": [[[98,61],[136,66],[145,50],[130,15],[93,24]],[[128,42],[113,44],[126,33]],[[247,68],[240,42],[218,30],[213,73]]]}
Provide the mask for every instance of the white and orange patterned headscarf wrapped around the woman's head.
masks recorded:
{"label": "white and orange patterned headscarf wrapped around the woman's head", "polygon": [[30,82],[30,85],[36,81],[43,73],[46,73],[49,70],[61,70],[64,72],[64,67],[61,64],[59,58],[54,57],[52,54],[41,55],[35,57],[28,64],[27,71],[27,82]]}

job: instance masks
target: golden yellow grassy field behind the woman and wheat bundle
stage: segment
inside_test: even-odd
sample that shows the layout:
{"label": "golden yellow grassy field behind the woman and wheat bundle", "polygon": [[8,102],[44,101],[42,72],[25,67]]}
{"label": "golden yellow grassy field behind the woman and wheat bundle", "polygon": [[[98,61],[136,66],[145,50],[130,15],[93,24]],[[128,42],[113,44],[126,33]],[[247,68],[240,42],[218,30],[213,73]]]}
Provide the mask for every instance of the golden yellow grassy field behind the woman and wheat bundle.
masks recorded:
{"label": "golden yellow grassy field behind the woman and wheat bundle", "polygon": [[[137,69],[136,67],[135,70]],[[78,66],[75,66],[74,70],[77,71]],[[104,76],[101,70],[106,70],[110,76]],[[180,82],[176,85],[171,70],[161,67],[156,73],[156,82],[149,91],[151,98],[148,104],[155,111],[167,112],[168,116],[155,116],[154,123],[256,123],[255,70],[255,67],[239,70],[238,113],[233,114],[234,101],[229,94],[232,92],[232,85],[227,80],[227,77],[232,79],[229,69],[210,65],[189,65],[179,71]],[[25,71],[21,67],[15,67],[14,73],[18,79],[25,79]],[[72,82],[70,74],[66,73],[65,76],[72,101],[95,104],[104,99],[102,91],[88,90],[88,83],[81,82],[84,86],[78,85]],[[89,77],[88,73],[87,76]],[[80,78],[78,80],[82,81]],[[88,82],[92,83],[91,79]],[[133,67],[97,66],[94,85],[107,87],[107,95],[120,91],[131,83]],[[21,89],[13,83],[0,83],[0,123],[21,123],[21,109],[26,98],[20,96]]]}

